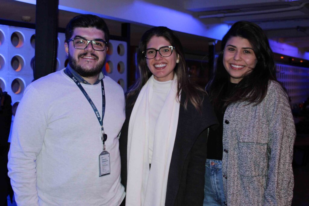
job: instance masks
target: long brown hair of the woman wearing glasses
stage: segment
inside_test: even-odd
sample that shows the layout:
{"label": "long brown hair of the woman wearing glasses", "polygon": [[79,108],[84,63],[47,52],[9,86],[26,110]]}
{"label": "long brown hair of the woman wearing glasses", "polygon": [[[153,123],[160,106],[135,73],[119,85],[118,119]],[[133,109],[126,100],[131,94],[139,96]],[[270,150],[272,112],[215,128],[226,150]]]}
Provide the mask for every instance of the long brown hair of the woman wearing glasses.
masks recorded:
{"label": "long brown hair of the woman wearing glasses", "polygon": [[200,111],[201,104],[203,102],[203,96],[200,96],[199,94],[201,94],[201,92],[205,93],[205,90],[203,90],[201,87],[197,86],[196,84],[190,81],[188,76],[187,64],[184,59],[184,51],[180,43],[180,40],[175,34],[175,32],[173,32],[171,29],[167,27],[153,27],[143,34],[142,39],[139,42],[137,52],[139,77],[135,81],[134,85],[127,92],[127,98],[139,93],[142,87],[145,85],[145,83],[152,75],[152,73],[147,67],[146,57],[144,56],[142,51],[146,49],[148,42],[153,36],[165,38],[167,41],[170,42],[171,46],[175,47],[174,50],[179,55],[179,63],[176,64],[174,68],[174,74],[176,74],[177,76],[177,86],[178,86],[177,99],[179,98],[180,92],[184,92],[186,94],[186,99],[184,101],[184,108],[185,109],[187,108],[188,101],[190,101],[193,104],[193,106],[198,111]]}

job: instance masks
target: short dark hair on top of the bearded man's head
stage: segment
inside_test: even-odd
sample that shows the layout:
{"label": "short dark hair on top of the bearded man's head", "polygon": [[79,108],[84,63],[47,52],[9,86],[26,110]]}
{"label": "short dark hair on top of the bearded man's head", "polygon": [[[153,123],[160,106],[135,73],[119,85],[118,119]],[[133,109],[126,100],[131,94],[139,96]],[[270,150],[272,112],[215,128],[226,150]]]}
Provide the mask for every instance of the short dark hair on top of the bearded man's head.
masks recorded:
{"label": "short dark hair on top of the bearded man's head", "polygon": [[68,25],[66,25],[66,42],[71,39],[74,29],[76,27],[94,27],[96,29],[102,30],[105,34],[105,41],[109,41],[109,30],[105,21],[96,15],[82,14],[75,16],[70,20]]}

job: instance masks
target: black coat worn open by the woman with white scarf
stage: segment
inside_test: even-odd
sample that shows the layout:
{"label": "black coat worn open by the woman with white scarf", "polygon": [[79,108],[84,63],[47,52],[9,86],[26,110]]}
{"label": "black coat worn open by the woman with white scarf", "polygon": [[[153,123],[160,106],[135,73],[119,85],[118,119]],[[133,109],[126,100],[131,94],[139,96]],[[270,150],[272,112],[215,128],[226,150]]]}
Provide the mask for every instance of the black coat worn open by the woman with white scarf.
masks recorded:
{"label": "black coat worn open by the woman with white scarf", "polygon": [[[127,100],[131,105],[138,95]],[[184,109],[186,95],[181,94],[178,126],[167,179],[165,205],[203,205],[207,128],[218,124],[213,107],[204,96],[201,113],[189,102]],[[121,183],[127,186],[128,127],[133,106],[127,106],[121,129],[119,150]]]}

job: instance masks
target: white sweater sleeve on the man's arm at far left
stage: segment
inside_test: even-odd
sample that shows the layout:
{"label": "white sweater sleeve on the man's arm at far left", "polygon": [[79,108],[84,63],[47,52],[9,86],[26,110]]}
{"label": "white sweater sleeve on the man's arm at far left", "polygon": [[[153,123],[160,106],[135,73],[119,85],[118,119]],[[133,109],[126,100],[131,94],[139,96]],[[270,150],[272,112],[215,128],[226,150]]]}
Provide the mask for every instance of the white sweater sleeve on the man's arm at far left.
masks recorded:
{"label": "white sweater sleeve on the man's arm at far left", "polygon": [[[42,149],[47,125],[44,102],[29,85],[19,103],[9,151],[9,177],[17,205],[39,205],[36,189],[36,157]],[[31,120],[31,121],[29,121]]]}

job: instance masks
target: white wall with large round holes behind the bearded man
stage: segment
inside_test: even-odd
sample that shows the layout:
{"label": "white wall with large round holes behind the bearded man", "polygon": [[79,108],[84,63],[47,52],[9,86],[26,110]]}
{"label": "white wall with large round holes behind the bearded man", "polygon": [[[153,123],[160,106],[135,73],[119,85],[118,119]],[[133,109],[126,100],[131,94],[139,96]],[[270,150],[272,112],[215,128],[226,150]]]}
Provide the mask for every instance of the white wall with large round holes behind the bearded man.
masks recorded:
{"label": "white wall with large round holes behind the bearded man", "polygon": [[[57,71],[66,67],[68,62],[64,40],[64,33],[58,33]],[[107,64],[103,72],[126,91],[127,43],[110,40],[108,48]],[[34,54],[34,29],[0,25],[0,85],[3,91],[11,95],[14,108],[22,98],[25,88],[33,81]]]}

